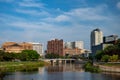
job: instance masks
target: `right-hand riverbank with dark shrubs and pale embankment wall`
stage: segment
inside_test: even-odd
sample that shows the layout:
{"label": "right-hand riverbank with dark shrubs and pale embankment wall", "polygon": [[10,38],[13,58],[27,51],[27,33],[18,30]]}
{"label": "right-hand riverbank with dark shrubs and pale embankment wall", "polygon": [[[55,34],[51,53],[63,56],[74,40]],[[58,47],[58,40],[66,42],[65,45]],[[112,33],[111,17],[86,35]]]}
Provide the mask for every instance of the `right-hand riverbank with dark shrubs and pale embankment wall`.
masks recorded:
{"label": "right-hand riverbank with dark shrubs and pale embankment wall", "polygon": [[115,72],[115,73],[120,73],[120,62],[108,62],[108,63],[94,63],[92,65],[91,62],[87,62],[84,65],[85,71],[88,72]]}

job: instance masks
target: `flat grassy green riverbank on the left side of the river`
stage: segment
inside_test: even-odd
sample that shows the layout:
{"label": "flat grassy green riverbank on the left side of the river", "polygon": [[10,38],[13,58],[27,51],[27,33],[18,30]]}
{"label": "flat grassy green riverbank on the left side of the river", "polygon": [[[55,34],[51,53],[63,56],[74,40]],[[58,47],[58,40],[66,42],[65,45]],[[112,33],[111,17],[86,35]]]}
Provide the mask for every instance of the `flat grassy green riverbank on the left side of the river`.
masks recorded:
{"label": "flat grassy green riverbank on the left side of the river", "polygon": [[43,67],[48,63],[43,61],[25,61],[25,62],[0,62],[1,72],[31,71],[38,67]]}

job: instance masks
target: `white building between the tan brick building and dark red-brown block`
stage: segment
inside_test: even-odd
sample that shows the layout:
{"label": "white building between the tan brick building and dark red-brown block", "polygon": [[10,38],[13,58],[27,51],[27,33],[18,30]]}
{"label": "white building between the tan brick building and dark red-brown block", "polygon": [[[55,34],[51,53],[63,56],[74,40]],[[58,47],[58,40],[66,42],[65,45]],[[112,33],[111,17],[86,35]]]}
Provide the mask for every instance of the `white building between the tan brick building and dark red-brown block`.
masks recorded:
{"label": "white building between the tan brick building and dark red-brown block", "polygon": [[33,50],[37,51],[40,56],[43,55],[43,45],[41,43],[30,42],[33,45]]}

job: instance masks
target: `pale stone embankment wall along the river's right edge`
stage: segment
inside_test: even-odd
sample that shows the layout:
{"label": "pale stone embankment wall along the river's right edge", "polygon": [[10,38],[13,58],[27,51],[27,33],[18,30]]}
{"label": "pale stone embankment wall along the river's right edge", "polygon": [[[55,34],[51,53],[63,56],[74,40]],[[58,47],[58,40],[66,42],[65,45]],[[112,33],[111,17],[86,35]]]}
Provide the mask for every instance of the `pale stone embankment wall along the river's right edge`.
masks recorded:
{"label": "pale stone embankment wall along the river's right edge", "polygon": [[103,66],[99,65],[100,69],[105,72],[118,72],[120,73],[120,67],[115,67],[115,66]]}

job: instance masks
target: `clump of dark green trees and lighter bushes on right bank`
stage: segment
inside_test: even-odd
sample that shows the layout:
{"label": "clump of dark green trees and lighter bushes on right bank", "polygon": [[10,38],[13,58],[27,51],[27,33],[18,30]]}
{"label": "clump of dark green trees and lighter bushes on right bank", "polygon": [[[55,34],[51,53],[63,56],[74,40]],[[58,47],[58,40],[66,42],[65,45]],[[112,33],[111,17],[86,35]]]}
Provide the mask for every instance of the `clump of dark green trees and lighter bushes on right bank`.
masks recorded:
{"label": "clump of dark green trees and lighter bushes on right bank", "polygon": [[110,61],[117,61],[120,59],[120,39],[118,39],[115,44],[106,47],[102,51],[98,51],[95,58],[102,61],[108,61],[108,58],[110,58]]}

